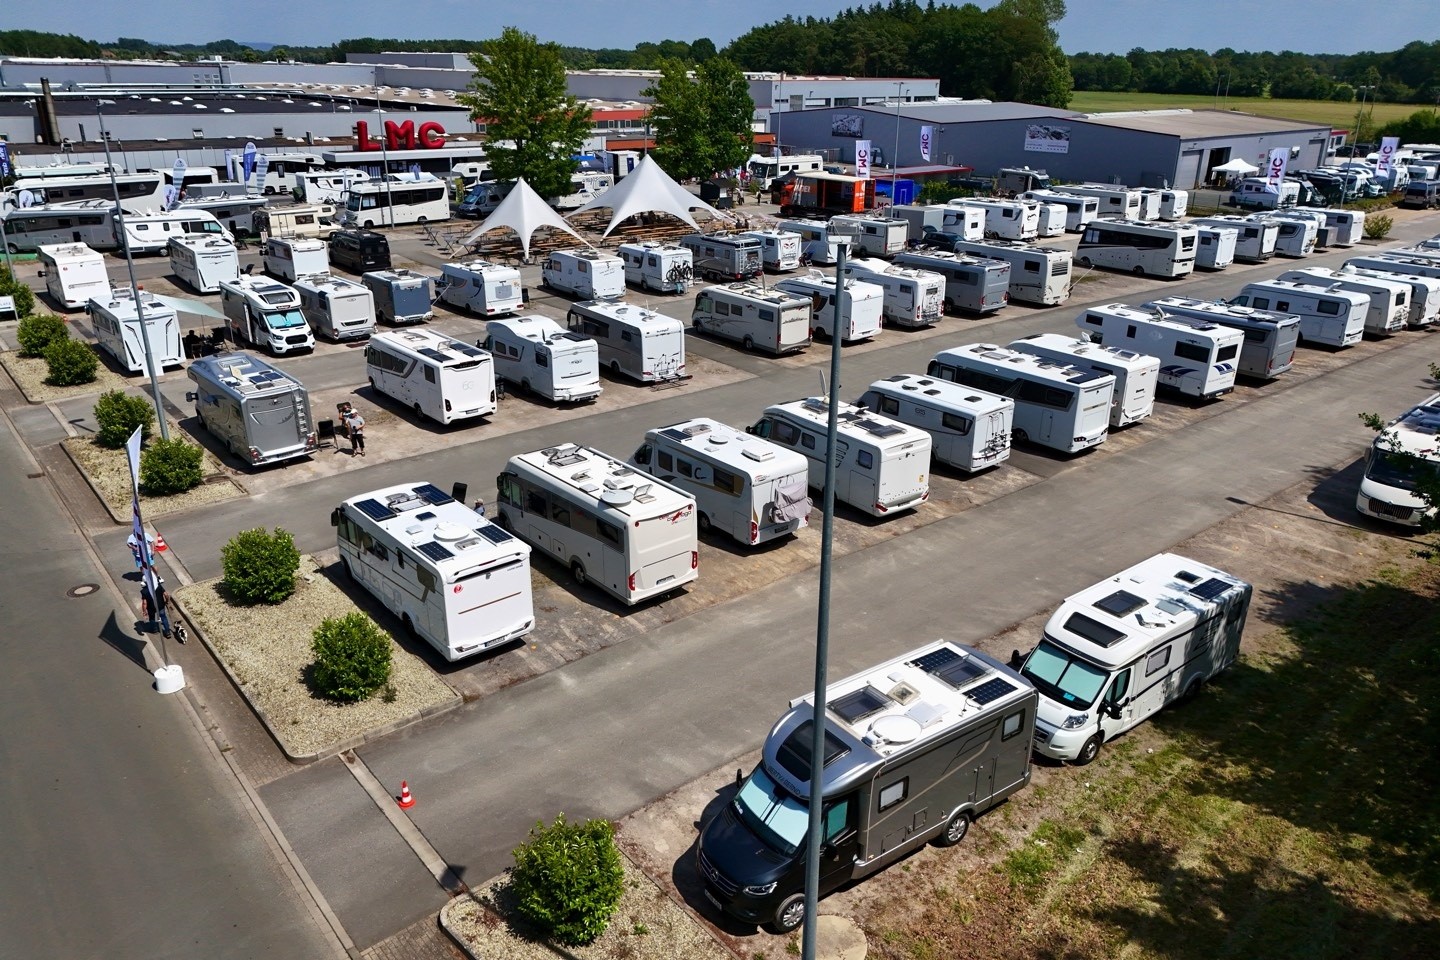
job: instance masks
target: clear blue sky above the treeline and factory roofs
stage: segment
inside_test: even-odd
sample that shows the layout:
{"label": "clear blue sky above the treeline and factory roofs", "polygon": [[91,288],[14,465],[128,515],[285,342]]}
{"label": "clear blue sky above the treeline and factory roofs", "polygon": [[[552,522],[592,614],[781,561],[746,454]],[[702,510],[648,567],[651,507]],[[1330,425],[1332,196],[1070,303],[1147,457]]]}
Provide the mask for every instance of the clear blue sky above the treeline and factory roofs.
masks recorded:
{"label": "clear blue sky above the treeline and factory roofs", "polygon": [[[3,0],[0,29],[117,36],[170,43],[232,37],[246,43],[318,46],[346,37],[485,39],[516,26],[567,46],[632,47],[642,40],[710,37],[723,47],[785,13],[834,16],[861,0]],[[989,7],[994,0],[979,0]],[[1133,47],[1394,50],[1440,39],[1436,0],[1067,0],[1060,46],[1067,53]],[[661,14],[660,12],[664,10]],[[403,16],[402,16],[403,14]]]}

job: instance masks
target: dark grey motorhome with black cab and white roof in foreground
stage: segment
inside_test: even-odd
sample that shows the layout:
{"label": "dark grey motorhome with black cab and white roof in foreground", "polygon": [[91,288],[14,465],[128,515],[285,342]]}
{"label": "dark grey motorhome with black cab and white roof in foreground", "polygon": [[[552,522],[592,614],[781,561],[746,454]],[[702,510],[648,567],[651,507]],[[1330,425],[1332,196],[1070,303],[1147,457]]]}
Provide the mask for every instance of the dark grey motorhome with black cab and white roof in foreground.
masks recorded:
{"label": "dark grey motorhome with black cab and white roof in foreground", "polygon": [[959,843],[1030,783],[1035,689],[976,649],[935,640],[829,684],[825,701],[824,763],[809,761],[815,695],[792,699],[696,843],[706,898],[780,934],[805,921],[811,803],[825,897],[924,843]]}

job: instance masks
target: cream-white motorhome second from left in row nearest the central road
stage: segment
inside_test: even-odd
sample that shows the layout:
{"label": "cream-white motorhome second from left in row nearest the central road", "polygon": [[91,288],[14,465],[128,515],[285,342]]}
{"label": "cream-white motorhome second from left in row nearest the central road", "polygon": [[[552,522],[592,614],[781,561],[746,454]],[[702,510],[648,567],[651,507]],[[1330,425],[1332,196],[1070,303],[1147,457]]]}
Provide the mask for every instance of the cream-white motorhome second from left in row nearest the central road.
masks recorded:
{"label": "cream-white motorhome second from left in row nearest the central road", "polygon": [[634,606],[698,576],[696,498],[609,453],[577,443],[520,453],[495,486],[500,524],[576,586]]}

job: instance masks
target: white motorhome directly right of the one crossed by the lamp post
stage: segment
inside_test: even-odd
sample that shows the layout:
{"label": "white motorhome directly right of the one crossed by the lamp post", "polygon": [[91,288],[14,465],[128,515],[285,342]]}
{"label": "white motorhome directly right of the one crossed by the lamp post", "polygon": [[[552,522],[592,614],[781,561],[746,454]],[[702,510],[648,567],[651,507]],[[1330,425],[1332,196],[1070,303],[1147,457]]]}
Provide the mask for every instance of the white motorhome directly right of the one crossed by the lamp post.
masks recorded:
{"label": "white motorhome directly right of the one crossed by the lamp post", "polygon": [[929,433],[936,463],[975,474],[1009,459],[1015,419],[1009,397],[900,373],[871,383],[855,406]]}

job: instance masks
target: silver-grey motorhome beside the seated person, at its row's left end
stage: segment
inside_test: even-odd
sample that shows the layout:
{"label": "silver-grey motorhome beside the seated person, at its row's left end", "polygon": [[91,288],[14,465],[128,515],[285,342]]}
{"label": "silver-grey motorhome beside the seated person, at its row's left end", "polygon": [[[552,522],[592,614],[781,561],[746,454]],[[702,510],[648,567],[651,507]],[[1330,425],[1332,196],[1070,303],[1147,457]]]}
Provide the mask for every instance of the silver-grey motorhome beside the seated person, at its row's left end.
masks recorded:
{"label": "silver-grey motorhome beside the seated person, at its row's left end", "polygon": [[251,466],[310,456],[315,422],[305,384],[245,353],[202,357],[186,376],[194,416],[230,453]]}

